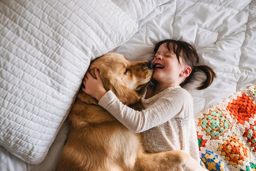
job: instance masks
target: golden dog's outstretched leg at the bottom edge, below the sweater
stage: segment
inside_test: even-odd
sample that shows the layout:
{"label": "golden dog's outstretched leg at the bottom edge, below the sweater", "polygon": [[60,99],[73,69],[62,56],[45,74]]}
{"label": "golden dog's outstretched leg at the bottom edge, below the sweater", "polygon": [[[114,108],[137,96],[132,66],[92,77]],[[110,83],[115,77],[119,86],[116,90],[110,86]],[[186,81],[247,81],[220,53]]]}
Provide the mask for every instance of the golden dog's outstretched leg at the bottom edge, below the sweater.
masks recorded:
{"label": "golden dog's outstretched leg at the bottom edge, below the sweater", "polygon": [[138,155],[136,171],[204,171],[189,154],[180,150]]}

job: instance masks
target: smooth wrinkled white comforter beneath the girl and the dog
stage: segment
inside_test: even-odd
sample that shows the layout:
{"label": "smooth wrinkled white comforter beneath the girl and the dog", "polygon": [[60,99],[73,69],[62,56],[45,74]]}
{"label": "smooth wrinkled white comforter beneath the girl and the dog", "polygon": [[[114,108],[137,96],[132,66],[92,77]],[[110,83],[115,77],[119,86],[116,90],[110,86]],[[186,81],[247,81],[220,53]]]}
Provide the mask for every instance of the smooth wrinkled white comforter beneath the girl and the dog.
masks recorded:
{"label": "smooth wrinkled white comforter beneath the girl and the dog", "polygon": [[[125,11],[124,4],[119,7]],[[184,86],[194,99],[194,115],[256,83],[256,0],[170,0],[138,25],[139,32],[115,49],[128,60],[151,60],[154,45],[171,38],[195,44],[199,65],[215,70],[218,78],[207,89],[195,89],[205,79],[201,72],[195,72]],[[11,171],[51,170],[57,165],[67,132],[64,124],[40,165],[27,164],[2,147],[0,165]]]}

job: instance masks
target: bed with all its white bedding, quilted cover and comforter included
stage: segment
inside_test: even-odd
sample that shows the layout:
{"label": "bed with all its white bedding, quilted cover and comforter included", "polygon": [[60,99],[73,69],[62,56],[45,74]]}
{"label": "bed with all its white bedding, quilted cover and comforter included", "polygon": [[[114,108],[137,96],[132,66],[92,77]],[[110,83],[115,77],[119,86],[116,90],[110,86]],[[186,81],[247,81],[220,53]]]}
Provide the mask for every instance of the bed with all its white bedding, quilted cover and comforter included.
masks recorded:
{"label": "bed with all its white bedding, quilted cover and comforter included", "polygon": [[184,86],[195,116],[256,83],[256,0],[1,0],[0,13],[1,171],[55,170],[84,73],[107,52],[142,61],[158,41],[193,43],[218,76]]}

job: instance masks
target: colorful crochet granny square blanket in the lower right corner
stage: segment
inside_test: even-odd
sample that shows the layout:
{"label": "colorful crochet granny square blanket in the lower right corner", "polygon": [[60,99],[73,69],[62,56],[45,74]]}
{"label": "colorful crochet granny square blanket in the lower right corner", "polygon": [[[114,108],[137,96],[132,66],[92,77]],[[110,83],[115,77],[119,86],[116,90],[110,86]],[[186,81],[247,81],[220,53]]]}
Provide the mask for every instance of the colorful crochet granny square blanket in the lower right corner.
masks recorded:
{"label": "colorful crochet granny square blanket in the lower right corner", "polygon": [[256,171],[256,84],[195,117],[201,165],[209,171]]}

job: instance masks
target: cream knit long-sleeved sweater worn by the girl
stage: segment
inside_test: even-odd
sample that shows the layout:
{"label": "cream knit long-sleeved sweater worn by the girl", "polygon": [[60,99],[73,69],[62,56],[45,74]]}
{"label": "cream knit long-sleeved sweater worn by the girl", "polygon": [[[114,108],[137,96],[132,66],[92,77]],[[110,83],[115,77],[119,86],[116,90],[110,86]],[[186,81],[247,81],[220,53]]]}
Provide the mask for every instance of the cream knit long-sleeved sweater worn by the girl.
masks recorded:
{"label": "cream knit long-sleeved sweater worn by the girl", "polygon": [[119,122],[135,133],[142,133],[150,153],[183,150],[200,161],[195,130],[192,96],[180,86],[169,87],[149,99],[137,111],[117,99],[109,90],[99,101]]}

